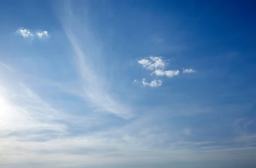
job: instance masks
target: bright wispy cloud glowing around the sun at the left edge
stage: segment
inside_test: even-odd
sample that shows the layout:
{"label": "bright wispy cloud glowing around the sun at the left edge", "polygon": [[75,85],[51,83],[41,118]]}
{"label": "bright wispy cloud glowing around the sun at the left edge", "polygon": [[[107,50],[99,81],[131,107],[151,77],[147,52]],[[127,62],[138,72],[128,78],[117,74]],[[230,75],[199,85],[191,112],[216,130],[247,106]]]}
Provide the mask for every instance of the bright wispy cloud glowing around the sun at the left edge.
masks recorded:
{"label": "bright wispy cloud glowing around the sun at the left edge", "polygon": [[69,135],[69,124],[82,124],[84,129],[88,123],[95,125],[91,117],[71,115],[42,99],[21,81],[20,70],[0,64],[0,76],[0,141],[9,136],[25,141],[48,140]]}

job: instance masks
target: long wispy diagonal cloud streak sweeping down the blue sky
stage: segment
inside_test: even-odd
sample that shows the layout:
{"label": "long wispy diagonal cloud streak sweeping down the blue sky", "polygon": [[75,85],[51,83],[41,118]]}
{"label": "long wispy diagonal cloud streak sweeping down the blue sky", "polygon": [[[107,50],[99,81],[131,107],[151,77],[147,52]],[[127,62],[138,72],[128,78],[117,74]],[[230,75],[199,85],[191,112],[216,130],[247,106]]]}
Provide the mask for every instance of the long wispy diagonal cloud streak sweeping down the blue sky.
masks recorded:
{"label": "long wispy diagonal cloud streak sweeping down the blue sky", "polygon": [[[101,76],[102,74],[97,73],[95,69],[97,64],[94,64],[92,59],[100,59],[101,55],[99,53],[99,45],[93,37],[93,33],[90,32],[87,27],[84,27],[85,24],[81,24],[80,21],[78,21],[79,17],[74,16],[73,11],[69,9],[67,13],[68,17],[62,18],[62,22],[67,37],[76,52],[76,66],[79,67],[78,72],[82,84],[82,97],[98,112],[112,113],[122,118],[132,117],[133,112],[131,107],[113,98],[104,85],[108,81],[105,81]],[[73,29],[83,31],[78,32]],[[86,37],[83,39],[83,36]],[[85,43],[90,44],[90,47],[82,47],[80,42],[83,40],[85,40]],[[104,65],[102,64],[102,66]]]}

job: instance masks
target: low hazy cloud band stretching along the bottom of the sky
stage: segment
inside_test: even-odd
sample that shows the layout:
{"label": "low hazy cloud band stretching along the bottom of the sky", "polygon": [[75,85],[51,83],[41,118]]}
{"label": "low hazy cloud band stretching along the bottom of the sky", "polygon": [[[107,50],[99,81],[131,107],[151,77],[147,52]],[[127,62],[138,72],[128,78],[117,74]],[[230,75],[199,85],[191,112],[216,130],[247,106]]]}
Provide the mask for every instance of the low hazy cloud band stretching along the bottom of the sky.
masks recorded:
{"label": "low hazy cloud band stretching along the bottom of the sky", "polygon": [[[198,144],[195,143],[175,144],[175,146],[180,146],[180,148],[174,150],[170,147],[150,148],[142,146],[140,143],[122,143],[115,138],[99,139],[96,136],[98,135],[93,134],[91,137],[75,138],[60,137],[45,142],[24,141],[14,137],[0,138],[2,152],[4,152],[1,156],[0,166],[6,168],[33,168],[37,164],[36,167],[38,168],[118,168],[120,165],[124,165],[124,168],[129,166],[144,168],[148,167],[148,165],[156,165],[151,167],[161,167],[161,162],[175,165],[175,162],[185,161],[191,165],[198,161],[205,162],[205,164],[207,164],[207,161],[215,161],[221,162],[223,166],[223,158],[229,162],[230,160],[235,162],[236,158],[252,161],[255,159],[256,151],[255,147],[204,150],[204,148],[199,148]],[[125,141],[125,139],[122,140]],[[202,144],[205,145],[207,143]],[[189,146],[190,148],[184,148],[184,146]],[[196,151],[193,147],[197,147],[200,151]],[[218,164],[217,167],[221,167],[221,165]],[[179,165],[176,164],[176,167],[179,167]]]}

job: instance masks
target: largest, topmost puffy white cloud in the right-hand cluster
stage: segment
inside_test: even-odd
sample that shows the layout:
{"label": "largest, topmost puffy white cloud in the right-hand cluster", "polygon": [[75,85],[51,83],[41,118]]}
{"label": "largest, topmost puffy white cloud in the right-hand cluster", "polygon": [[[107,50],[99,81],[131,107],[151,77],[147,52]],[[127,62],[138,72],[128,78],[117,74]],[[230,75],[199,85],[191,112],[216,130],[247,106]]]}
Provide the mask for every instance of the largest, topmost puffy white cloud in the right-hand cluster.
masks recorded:
{"label": "largest, topmost puffy white cloud in the right-hand cluster", "polygon": [[166,62],[157,56],[150,56],[149,59],[141,59],[138,63],[148,70],[164,69],[167,65]]}

